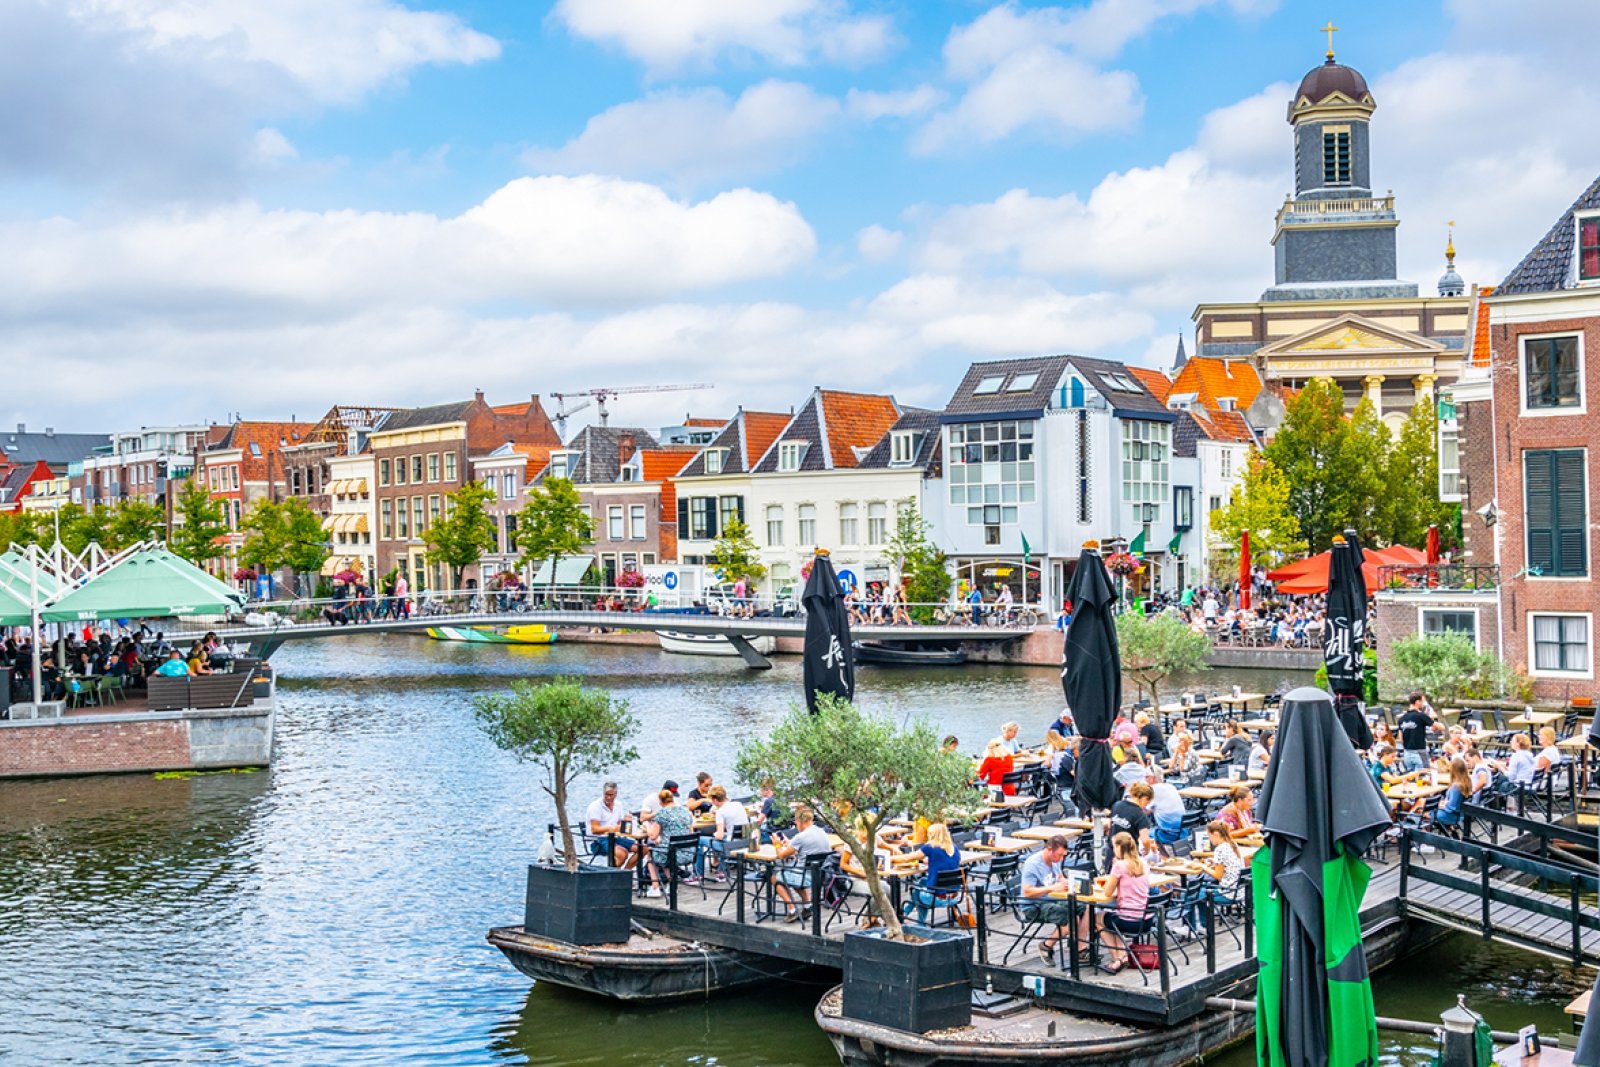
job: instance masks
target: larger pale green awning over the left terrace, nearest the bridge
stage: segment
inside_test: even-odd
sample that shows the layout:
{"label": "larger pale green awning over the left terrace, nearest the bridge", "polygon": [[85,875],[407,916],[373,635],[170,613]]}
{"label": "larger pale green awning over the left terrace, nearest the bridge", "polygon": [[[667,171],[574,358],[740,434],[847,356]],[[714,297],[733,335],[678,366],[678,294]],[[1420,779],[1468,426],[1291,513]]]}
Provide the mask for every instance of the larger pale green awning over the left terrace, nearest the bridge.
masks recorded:
{"label": "larger pale green awning over the left terrace, nearest the bridge", "polygon": [[50,605],[46,622],[229,614],[243,595],[166,549],[146,549],[114,563]]}

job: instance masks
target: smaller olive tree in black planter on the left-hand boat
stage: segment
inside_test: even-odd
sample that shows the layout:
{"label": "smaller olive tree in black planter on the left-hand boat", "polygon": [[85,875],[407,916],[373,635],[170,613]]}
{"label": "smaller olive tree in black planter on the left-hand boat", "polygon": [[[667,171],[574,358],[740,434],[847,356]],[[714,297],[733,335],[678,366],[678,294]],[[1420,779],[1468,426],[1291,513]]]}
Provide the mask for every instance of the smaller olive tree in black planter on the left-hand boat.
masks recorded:
{"label": "smaller olive tree in black planter on the left-hand boat", "polygon": [[472,710],[490,741],[518,763],[544,768],[541,787],[555,801],[566,864],[528,865],[523,929],[574,945],[627,941],[634,872],[581,867],[566,816],[566,798],[579,774],[603,774],[638,758],[630,744],[638,720],[627,702],[605,689],[587,689],[578,678],[554,678],[542,685],[514,681],[510,693],[477,696]]}

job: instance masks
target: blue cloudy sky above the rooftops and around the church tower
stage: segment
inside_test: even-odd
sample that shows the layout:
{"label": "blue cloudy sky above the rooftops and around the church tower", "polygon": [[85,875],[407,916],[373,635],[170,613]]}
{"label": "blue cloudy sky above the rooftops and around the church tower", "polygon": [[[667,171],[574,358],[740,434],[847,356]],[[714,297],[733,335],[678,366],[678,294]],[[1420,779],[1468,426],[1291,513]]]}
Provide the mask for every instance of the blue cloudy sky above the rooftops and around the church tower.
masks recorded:
{"label": "blue cloudy sky above the rooftops and around the church tower", "polygon": [[1592,0],[0,0],[0,426],[1166,368],[1330,19],[1400,277],[1498,282],[1600,173]]}

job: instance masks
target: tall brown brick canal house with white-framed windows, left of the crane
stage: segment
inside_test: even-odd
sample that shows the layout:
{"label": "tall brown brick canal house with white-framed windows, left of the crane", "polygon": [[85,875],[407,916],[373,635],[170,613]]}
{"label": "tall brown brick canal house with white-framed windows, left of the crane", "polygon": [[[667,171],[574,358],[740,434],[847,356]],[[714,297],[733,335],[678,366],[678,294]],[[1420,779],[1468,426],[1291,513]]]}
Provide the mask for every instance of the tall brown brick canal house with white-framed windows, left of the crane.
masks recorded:
{"label": "tall brown brick canal house with white-framed windows, left of the crane", "polygon": [[[424,534],[445,514],[450,493],[472,477],[469,456],[486,456],[506,443],[562,443],[539,397],[490,406],[482,392],[472,400],[395,411],[368,440],[378,469],[378,571],[400,571],[413,590],[442,589],[446,581],[445,568],[424,558]],[[477,568],[462,574],[464,582],[478,579]]]}

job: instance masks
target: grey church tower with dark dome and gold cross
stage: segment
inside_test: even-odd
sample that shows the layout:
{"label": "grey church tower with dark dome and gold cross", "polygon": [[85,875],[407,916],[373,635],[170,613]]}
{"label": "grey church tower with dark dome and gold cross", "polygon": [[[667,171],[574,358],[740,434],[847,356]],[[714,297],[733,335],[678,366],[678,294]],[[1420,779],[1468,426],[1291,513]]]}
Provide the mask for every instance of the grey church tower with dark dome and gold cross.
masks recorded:
{"label": "grey church tower with dark dome and gold cross", "polygon": [[1262,301],[1410,298],[1395,274],[1394,195],[1374,197],[1368,126],[1378,102],[1366,78],[1333,61],[1301,78],[1290,102],[1294,195],[1272,234],[1274,285]]}

